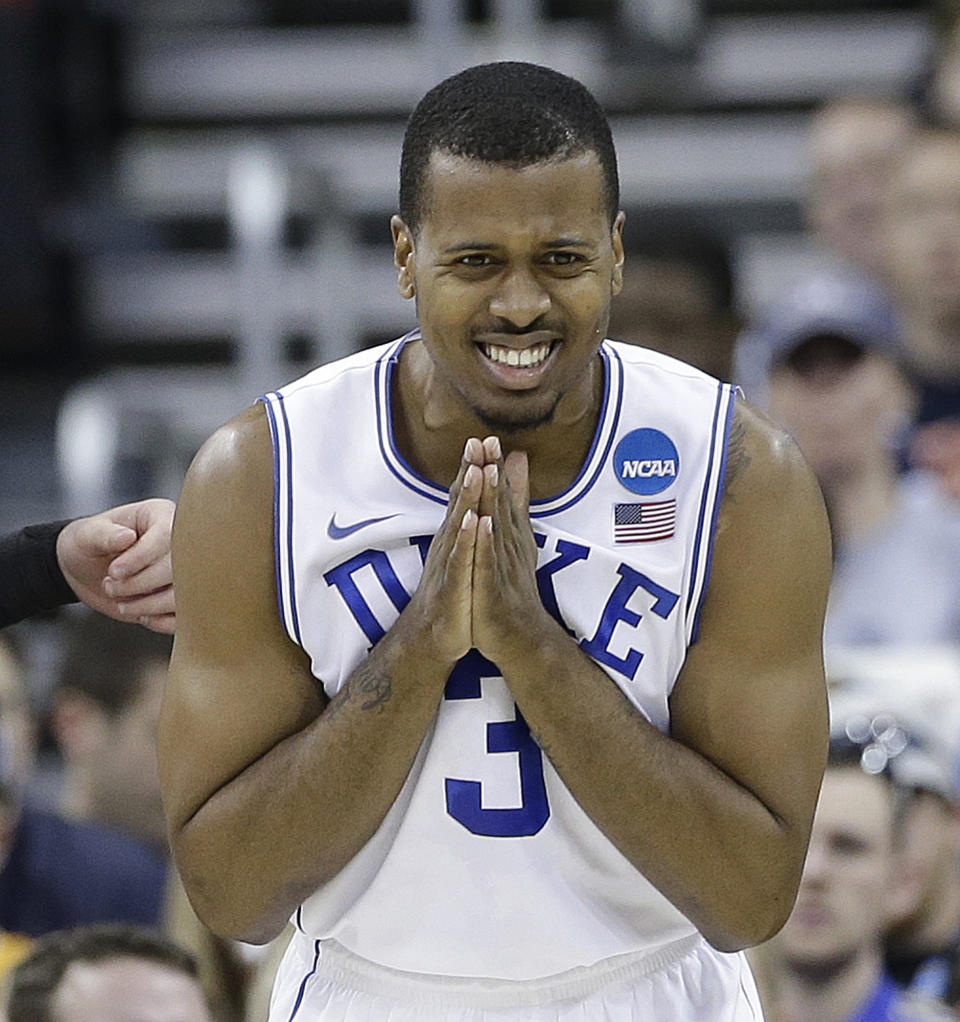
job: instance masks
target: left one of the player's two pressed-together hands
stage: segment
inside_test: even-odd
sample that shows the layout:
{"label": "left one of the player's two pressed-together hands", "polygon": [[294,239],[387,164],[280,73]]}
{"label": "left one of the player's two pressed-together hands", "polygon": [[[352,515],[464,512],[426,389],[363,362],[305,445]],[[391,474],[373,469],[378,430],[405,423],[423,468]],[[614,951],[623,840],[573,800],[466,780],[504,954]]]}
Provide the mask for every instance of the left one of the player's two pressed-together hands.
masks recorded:
{"label": "left one of the player's two pressed-together hands", "polygon": [[473,548],[483,490],[481,442],[468,439],[450,487],[443,523],[433,537],[423,574],[401,619],[424,655],[453,665],[473,645],[470,635]]}

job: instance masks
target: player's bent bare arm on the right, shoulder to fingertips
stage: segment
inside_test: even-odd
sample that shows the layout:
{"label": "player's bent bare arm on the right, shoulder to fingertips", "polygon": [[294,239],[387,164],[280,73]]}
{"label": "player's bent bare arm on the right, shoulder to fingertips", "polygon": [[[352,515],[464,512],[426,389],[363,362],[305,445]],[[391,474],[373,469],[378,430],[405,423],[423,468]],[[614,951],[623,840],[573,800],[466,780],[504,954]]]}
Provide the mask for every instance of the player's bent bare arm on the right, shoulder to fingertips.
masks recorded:
{"label": "player's bent bare arm on the right, shoulder to fingertips", "polygon": [[[496,575],[508,606],[500,614],[481,599],[474,643],[541,747],[597,826],[724,950],[775,933],[796,894],[826,756],[830,575],[823,502],[795,446],[738,403],[728,453],[699,638],[669,736],[552,618],[528,611],[522,641],[510,628],[520,605],[509,607],[511,578],[529,587],[527,572],[502,568],[529,558],[515,500],[509,513],[502,494],[486,500],[501,526],[482,530],[474,567],[474,589],[492,592]],[[522,473],[506,468],[521,490]]]}

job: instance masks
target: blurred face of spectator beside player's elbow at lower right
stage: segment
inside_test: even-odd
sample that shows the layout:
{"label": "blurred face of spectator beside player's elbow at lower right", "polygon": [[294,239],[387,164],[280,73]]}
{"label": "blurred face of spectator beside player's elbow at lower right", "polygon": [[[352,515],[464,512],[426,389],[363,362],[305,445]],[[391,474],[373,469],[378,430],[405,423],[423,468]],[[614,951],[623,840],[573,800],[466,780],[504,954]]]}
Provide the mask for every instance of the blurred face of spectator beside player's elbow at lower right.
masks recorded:
{"label": "blurred face of spectator beside player's elbow at lower right", "polygon": [[794,966],[830,970],[876,946],[898,908],[893,833],[882,778],[827,771],[796,904],[776,938]]}

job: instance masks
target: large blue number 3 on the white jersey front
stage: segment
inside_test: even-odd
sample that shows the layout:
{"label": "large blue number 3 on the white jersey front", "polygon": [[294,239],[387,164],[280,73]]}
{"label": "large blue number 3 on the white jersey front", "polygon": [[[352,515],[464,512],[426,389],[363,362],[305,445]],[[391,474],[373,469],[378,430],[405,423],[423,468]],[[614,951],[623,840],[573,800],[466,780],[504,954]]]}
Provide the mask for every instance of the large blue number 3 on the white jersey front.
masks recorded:
{"label": "large blue number 3 on the white jersey front", "polygon": [[[445,699],[479,699],[481,679],[498,678],[500,671],[477,651],[470,650],[451,671]],[[515,705],[515,704],[514,704]],[[514,808],[484,808],[479,781],[447,778],[447,811],[471,834],[484,837],[530,837],[542,830],[550,817],[543,778],[543,753],[527,722],[516,710],[513,721],[487,725],[487,751],[515,752],[520,771],[520,804]]]}

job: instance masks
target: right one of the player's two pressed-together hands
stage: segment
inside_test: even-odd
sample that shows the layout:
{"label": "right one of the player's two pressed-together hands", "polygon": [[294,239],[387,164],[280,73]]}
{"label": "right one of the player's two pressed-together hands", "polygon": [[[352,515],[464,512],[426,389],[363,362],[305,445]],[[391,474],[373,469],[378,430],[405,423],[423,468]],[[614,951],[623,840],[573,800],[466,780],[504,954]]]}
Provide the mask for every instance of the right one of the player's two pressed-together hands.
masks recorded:
{"label": "right one of the player's two pressed-together hands", "polygon": [[537,589],[537,543],[530,523],[527,454],[503,458],[500,440],[484,440],[473,555],[473,645],[501,667],[529,655],[549,618]]}

